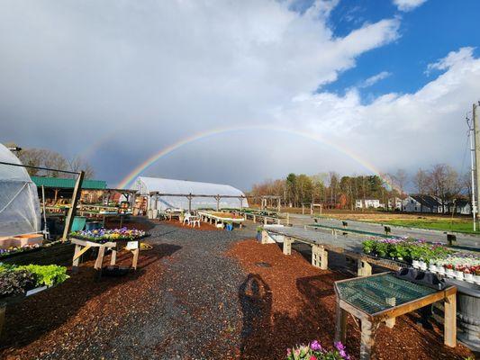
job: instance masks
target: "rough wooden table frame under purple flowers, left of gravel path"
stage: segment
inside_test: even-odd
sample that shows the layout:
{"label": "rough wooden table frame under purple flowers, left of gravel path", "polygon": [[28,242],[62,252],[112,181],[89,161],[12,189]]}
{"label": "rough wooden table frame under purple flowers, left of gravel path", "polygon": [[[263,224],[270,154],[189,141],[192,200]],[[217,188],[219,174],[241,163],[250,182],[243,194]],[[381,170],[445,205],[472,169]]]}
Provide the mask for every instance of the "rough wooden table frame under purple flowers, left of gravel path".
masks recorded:
{"label": "rough wooden table frame under purple flowers, left of gravel path", "polygon": [[[114,266],[117,260],[117,251],[118,251],[118,244],[119,243],[127,243],[127,249],[131,251],[133,254],[133,258],[131,260],[131,267],[133,269],[137,269],[137,262],[139,260],[139,253],[140,253],[140,239],[138,240],[120,240],[120,241],[108,241],[103,244],[95,242],[95,241],[88,241],[82,240],[79,238],[71,238],[72,244],[75,244],[75,253],[73,255],[73,263],[72,263],[72,272],[76,273],[78,271],[78,265],[80,263],[80,257],[91,247],[98,247],[98,255],[96,256],[95,260],[95,270],[102,271],[102,265],[104,263],[104,254],[105,250],[112,248],[112,258],[110,260],[110,265]],[[133,245],[132,243],[136,243],[133,247],[128,247],[128,245]]]}

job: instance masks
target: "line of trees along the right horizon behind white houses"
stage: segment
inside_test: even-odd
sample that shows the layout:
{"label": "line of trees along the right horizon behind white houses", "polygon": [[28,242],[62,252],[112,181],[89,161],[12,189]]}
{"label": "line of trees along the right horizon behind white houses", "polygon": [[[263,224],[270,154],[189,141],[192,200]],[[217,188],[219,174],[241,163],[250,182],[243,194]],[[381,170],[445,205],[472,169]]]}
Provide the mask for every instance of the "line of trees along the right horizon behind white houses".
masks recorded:
{"label": "line of trees along the right horizon behind white houses", "polygon": [[470,197],[468,179],[446,164],[437,164],[428,170],[419,168],[413,175],[403,169],[381,175],[339,175],[334,171],[318,175],[291,173],[284,179],[254,184],[249,195],[280,196],[284,206],[322,203],[325,208],[353,210],[356,200],[366,199],[378,199],[388,207],[389,200],[404,199],[407,189],[437,196],[443,203],[452,202],[461,196]]}

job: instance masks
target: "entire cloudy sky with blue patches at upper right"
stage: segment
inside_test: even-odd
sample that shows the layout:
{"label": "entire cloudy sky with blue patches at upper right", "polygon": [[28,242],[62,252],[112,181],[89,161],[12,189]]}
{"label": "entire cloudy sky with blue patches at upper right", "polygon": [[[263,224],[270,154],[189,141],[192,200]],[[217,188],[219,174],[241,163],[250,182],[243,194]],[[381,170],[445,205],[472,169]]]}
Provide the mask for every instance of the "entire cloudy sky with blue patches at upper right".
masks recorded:
{"label": "entire cloudy sky with blue patches at upper right", "polygon": [[478,14],[476,0],[0,0],[0,141],[86,157],[112,186],[162,150],[142,175],[242,189],[466,171]]}

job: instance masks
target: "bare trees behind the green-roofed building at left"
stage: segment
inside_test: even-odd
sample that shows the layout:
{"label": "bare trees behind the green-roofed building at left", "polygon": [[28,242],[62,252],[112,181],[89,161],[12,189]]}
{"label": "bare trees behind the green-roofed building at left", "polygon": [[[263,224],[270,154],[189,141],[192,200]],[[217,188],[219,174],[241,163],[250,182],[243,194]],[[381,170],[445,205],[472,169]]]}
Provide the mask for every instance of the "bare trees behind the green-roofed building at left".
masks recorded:
{"label": "bare trees behind the green-roofed building at left", "polygon": [[[7,148],[15,148],[14,143],[5,144]],[[52,177],[75,177],[73,174],[62,173],[63,171],[84,171],[85,178],[91,179],[95,175],[94,168],[82,157],[67,158],[57,151],[46,148],[24,148],[15,151],[15,155],[26,166],[47,167],[51,170],[41,170],[28,167],[27,171],[31,176],[52,176]]]}

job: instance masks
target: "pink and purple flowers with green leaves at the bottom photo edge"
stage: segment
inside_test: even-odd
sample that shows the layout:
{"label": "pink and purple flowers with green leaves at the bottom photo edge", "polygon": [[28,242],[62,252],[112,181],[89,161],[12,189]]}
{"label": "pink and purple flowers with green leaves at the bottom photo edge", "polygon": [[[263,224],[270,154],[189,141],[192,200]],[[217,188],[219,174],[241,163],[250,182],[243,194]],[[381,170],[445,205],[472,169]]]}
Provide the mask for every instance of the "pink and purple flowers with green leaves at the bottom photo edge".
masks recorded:
{"label": "pink and purple flowers with green leaves at the bottom photo edge", "polygon": [[308,346],[289,348],[286,350],[286,360],[349,360],[347,348],[336,342],[334,350],[327,350],[320,342],[313,340]]}

